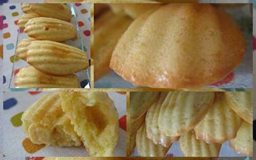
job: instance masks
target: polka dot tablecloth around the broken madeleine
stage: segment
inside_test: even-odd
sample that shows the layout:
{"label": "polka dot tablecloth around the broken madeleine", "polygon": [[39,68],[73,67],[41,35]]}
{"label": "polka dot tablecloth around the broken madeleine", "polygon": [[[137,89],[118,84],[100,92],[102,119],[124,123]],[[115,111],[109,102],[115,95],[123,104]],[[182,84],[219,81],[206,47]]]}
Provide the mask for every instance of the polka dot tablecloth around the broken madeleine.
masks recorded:
{"label": "polka dot tablecloth around the broken madeleine", "polygon": [[[88,156],[84,147],[51,147],[35,145],[22,129],[20,117],[28,106],[33,104],[47,92],[5,92],[4,93],[4,152],[8,160],[24,159],[26,156]],[[126,154],[126,95],[108,92],[114,101],[119,116],[119,139],[115,148],[115,156]],[[24,158],[21,158],[24,157]]]}

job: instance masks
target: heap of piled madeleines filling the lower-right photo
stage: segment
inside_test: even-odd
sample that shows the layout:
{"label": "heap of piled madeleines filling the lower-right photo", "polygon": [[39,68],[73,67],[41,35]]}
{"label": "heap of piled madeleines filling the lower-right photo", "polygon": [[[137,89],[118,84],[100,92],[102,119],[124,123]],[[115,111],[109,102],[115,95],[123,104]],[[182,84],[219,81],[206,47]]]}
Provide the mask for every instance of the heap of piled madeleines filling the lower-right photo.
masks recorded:
{"label": "heap of piled madeleines filling the lower-right photo", "polygon": [[132,92],[127,154],[165,156],[179,142],[184,156],[217,157],[229,141],[252,156],[251,92]]}

